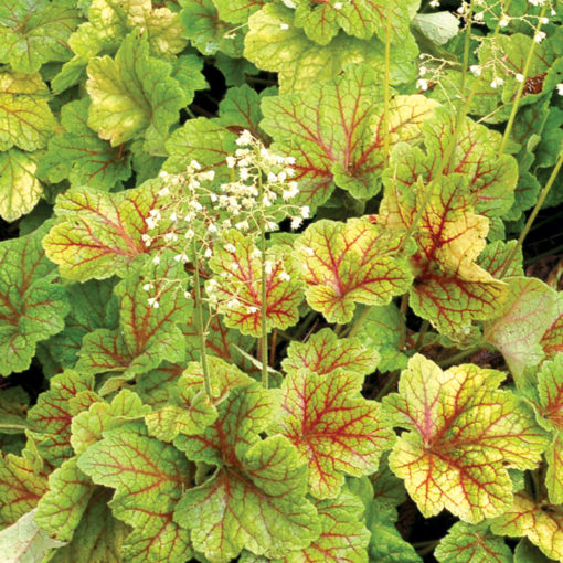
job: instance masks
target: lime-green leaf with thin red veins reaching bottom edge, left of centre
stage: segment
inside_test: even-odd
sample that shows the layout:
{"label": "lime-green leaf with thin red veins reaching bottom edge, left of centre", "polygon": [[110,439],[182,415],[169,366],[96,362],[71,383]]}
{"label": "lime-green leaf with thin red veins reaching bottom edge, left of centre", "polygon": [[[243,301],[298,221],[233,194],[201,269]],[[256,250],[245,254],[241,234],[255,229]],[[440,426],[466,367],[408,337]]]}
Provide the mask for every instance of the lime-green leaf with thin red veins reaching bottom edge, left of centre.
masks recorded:
{"label": "lime-green leaf with thin red veins reaching bottom edge, left of centre", "polygon": [[123,546],[130,563],[184,563],[189,534],[172,520],[188,480],[185,457],[146,435],[139,423],[107,431],[78,458],[78,468],[98,485],[116,489],[114,516],[134,528]]}

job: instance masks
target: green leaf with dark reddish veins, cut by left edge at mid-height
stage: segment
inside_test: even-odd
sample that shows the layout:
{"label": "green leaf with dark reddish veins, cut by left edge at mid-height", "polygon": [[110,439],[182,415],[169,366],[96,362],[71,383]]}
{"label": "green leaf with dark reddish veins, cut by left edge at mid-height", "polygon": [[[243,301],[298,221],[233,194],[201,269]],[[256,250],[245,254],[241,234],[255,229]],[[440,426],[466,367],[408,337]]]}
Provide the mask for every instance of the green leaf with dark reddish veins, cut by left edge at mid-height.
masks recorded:
{"label": "green leaf with dark reddish veins, cut by left edge at mid-height", "polygon": [[36,342],[64,327],[64,288],[52,283],[55,268],[41,247],[47,229],[0,243],[0,375],[28,369]]}

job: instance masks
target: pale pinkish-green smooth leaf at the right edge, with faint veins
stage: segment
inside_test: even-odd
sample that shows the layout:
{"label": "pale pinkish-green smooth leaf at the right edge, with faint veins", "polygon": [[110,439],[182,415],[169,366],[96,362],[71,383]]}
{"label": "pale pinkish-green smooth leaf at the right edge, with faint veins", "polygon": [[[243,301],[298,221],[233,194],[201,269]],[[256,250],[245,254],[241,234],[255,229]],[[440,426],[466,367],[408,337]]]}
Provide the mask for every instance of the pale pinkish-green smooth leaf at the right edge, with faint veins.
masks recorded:
{"label": "pale pinkish-green smooth leaf at the right edge, with faint veins", "polygon": [[507,280],[509,298],[500,316],[485,325],[484,340],[502,352],[514,376],[543,358],[540,339],[555,316],[556,293],[538,278]]}

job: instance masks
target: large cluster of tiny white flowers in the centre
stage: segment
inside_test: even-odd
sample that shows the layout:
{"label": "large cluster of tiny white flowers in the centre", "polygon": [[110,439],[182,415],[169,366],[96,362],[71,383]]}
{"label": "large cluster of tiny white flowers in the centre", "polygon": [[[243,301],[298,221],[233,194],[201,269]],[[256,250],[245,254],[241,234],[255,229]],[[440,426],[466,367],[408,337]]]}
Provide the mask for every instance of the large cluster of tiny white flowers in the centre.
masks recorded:
{"label": "large cluster of tiny white flowers in the centre", "polygon": [[[159,173],[159,205],[149,211],[146,219],[149,231],[142,235],[147,247],[158,243],[155,265],[160,264],[166,248],[173,251],[176,262],[201,264],[214,256],[216,245],[229,238],[231,230],[256,238],[261,226],[275,231],[280,221],[288,219],[291,229],[298,229],[309,217],[307,205],[291,203],[299,193],[293,180],[295,159],[270,153],[247,130],[236,139],[236,145],[235,153],[226,157],[226,166],[232,169],[230,182],[216,182],[215,172],[202,170],[195,160],[181,173]],[[227,246],[225,251],[234,252]],[[200,272],[204,269],[200,267]],[[282,278],[284,275],[287,276],[280,272]],[[209,302],[216,306],[212,282],[208,284]],[[150,284],[145,288],[150,291]],[[158,295],[149,297],[149,305],[159,307]]]}

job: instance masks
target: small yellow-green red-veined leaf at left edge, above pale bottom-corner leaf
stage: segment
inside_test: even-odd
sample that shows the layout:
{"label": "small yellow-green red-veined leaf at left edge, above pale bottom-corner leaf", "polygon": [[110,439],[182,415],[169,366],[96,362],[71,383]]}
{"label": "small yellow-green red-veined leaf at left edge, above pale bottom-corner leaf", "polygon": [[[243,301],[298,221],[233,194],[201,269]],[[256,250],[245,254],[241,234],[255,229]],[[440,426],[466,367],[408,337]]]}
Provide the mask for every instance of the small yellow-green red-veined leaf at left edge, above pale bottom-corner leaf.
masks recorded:
{"label": "small yellow-green red-veined leaf at left edge, above pale bottom-corner leaf", "polygon": [[32,459],[0,453],[0,528],[35,508],[46,490],[46,475]]}

